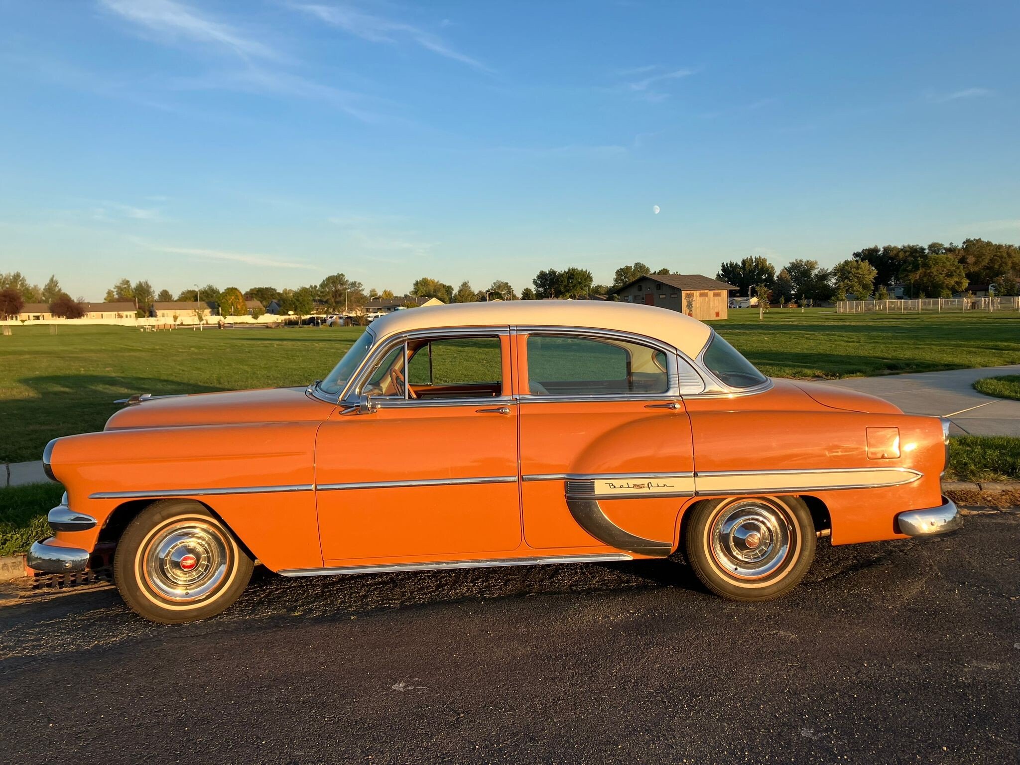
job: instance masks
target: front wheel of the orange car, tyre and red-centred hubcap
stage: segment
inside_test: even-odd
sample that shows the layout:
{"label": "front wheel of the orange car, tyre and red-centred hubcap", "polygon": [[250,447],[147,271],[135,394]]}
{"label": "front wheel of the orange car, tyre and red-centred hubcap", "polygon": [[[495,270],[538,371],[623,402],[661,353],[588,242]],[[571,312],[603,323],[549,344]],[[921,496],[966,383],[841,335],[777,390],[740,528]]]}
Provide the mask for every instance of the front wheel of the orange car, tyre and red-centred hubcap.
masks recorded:
{"label": "front wheel of the orange car, tyre and red-centred hubcap", "polygon": [[222,612],[244,592],[253,568],[230,529],[192,500],[149,505],[113,555],[113,580],[124,602],[163,624]]}

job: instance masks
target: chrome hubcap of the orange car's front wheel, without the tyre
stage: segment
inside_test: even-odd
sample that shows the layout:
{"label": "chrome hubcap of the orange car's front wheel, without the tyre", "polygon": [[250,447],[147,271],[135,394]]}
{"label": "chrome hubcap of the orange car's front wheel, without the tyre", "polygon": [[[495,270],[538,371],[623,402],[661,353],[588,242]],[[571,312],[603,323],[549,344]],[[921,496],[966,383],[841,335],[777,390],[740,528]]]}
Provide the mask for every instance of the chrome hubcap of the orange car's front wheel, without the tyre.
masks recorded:
{"label": "chrome hubcap of the orange car's front wheel, without the tyre", "polygon": [[145,577],[157,595],[171,601],[197,601],[226,578],[231,554],[222,532],[198,520],[174,523],[149,542]]}

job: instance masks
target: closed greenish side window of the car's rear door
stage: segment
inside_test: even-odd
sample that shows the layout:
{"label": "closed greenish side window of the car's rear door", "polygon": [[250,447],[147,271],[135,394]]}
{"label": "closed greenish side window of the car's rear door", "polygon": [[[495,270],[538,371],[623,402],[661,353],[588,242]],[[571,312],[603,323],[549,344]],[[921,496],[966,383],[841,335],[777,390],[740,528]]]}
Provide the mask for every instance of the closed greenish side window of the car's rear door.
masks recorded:
{"label": "closed greenish side window of the car's rear door", "polygon": [[668,361],[662,351],[622,340],[530,335],[527,382],[532,396],[664,394]]}

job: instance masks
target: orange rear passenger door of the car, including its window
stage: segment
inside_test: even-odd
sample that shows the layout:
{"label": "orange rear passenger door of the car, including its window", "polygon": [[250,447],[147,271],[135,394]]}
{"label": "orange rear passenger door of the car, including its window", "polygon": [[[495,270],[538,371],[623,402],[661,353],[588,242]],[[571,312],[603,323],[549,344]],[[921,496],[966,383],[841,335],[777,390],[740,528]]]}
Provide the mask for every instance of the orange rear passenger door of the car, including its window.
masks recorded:
{"label": "orange rear passenger door of the car, including its window", "polygon": [[525,542],[668,555],[694,493],[679,390],[681,373],[697,373],[673,349],[622,333],[519,328],[516,351]]}

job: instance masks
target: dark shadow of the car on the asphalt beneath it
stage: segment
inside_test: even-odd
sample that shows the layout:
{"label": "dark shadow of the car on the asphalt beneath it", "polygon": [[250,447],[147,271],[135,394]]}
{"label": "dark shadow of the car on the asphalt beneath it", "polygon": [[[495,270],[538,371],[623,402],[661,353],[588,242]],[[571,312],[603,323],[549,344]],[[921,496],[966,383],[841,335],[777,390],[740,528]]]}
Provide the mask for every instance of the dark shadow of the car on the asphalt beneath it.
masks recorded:
{"label": "dark shadow of the car on the asphalt beneath it", "polygon": [[[811,601],[817,590],[909,556],[910,541],[832,548],[820,545],[814,565],[792,602]],[[659,560],[466,568],[337,576],[279,576],[259,566],[241,599],[223,614],[180,625],[136,616],[112,586],[28,599],[0,608],[0,659],[15,663],[90,646],[133,639],[189,638],[291,624],[372,618],[406,609],[514,598],[569,598],[578,602],[627,592],[663,590],[696,604],[716,601],[678,556]],[[786,599],[783,599],[785,601]],[[61,628],[54,629],[55,624]]]}

